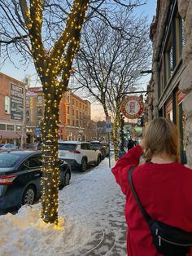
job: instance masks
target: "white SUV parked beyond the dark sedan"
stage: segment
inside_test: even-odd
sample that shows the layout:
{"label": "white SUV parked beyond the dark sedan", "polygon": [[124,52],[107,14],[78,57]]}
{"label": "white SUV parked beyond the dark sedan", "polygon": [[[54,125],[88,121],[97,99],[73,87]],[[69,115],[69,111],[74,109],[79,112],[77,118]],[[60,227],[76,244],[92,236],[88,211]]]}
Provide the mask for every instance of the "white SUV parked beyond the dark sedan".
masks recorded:
{"label": "white SUV parked beyond the dark sedan", "polygon": [[72,168],[79,167],[85,171],[90,164],[98,166],[101,157],[101,152],[89,142],[59,141],[59,158],[67,161]]}

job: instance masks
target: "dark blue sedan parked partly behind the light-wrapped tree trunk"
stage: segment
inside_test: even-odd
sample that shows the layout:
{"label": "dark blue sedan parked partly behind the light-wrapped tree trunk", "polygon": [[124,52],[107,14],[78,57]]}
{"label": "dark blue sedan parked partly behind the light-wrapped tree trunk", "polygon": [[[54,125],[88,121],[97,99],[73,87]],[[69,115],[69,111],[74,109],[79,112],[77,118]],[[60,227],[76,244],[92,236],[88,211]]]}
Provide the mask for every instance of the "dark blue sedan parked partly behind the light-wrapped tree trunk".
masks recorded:
{"label": "dark blue sedan parked partly behind the light-wrapped tree trunk", "polygon": [[[59,188],[68,185],[71,167],[59,162]],[[41,196],[41,152],[12,151],[0,154],[0,210],[32,205]]]}

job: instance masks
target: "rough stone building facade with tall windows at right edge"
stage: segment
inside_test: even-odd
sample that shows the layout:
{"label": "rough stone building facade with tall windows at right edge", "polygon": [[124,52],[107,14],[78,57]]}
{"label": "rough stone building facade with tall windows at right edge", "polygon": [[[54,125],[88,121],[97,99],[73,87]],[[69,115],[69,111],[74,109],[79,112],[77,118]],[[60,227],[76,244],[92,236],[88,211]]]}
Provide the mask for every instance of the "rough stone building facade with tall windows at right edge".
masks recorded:
{"label": "rough stone building facade with tall windows at right edge", "polygon": [[[168,117],[180,134],[181,162],[192,166],[192,1],[158,0],[151,24],[149,119]],[[186,152],[186,154],[185,154]],[[187,157],[186,157],[187,156]]]}

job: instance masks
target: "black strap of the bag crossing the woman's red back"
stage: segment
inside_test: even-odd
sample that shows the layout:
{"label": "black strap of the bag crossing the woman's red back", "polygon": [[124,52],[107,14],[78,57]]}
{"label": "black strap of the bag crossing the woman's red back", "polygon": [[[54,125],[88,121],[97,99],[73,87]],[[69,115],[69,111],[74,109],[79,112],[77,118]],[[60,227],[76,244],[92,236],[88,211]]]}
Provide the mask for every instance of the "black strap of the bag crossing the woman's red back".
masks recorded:
{"label": "black strap of the bag crossing the woman's red back", "polygon": [[129,170],[129,173],[128,173],[130,187],[131,187],[131,190],[133,192],[133,196],[135,197],[135,200],[137,201],[137,205],[138,205],[139,209],[142,212],[143,217],[146,219],[146,222],[148,223],[148,225],[151,226],[151,223],[153,223],[154,220],[151,218],[151,216],[149,214],[147,214],[146,210],[143,208],[141,202],[139,201],[137,193],[135,192],[135,189],[133,187],[133,181],[132,181],[132,177],[131,176],[132,176],[132,173],[133,173],[133,170],[135,169],[135,167],[136,166],[132,166],[131,169]]}

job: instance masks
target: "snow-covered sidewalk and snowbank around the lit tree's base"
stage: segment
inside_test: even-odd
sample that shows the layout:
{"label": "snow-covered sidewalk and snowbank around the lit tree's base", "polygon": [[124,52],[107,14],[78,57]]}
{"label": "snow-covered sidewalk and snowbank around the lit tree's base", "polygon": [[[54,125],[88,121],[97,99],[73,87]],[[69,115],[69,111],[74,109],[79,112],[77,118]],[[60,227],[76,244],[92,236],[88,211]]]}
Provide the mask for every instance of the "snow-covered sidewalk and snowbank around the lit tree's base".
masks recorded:
{"label": "snow-covered sidewalk and snowbank around the lit tree's base", "polygon": [[0,256],[127,255],[124,196],[108,158],[72,172],[70,185],[59,191],[59,228],[43,223],[40,211],[38,203],[0,216]]}

